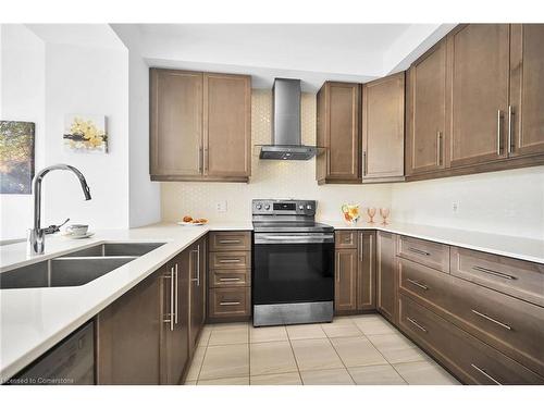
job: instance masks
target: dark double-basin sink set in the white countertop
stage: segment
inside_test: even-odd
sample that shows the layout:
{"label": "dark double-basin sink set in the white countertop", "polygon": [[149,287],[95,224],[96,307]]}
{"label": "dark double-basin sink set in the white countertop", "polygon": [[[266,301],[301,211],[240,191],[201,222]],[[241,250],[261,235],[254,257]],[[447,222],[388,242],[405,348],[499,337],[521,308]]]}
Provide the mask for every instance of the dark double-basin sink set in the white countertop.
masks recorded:
{"label": "dark double-basin sink set in the white countertop", "polygon": [[0,289],[81,286],[164,243],[107,243],[0,273]]}

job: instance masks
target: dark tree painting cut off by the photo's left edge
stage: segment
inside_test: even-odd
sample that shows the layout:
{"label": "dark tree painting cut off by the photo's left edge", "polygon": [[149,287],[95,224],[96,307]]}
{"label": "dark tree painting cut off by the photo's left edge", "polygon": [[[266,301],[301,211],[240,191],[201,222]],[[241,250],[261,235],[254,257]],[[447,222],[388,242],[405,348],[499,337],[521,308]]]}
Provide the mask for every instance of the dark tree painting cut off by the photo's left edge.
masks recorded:
{"label": "dark tree painting cut off by the photo's left edge", "polygon": [[32,194],[34,132],[32,122],[0,121],[0,194]]}

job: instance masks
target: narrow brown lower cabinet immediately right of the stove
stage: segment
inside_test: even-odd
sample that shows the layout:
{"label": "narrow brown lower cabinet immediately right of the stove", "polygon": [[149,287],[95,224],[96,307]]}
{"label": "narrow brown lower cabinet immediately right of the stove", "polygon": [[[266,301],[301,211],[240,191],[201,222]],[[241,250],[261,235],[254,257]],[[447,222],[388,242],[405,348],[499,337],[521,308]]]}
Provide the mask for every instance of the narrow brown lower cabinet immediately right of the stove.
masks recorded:
{"label": "narrow brown lower cabinet immediately right of the stove", "polygon": [[334,310],[375,309],[375,233],[336,232]]}

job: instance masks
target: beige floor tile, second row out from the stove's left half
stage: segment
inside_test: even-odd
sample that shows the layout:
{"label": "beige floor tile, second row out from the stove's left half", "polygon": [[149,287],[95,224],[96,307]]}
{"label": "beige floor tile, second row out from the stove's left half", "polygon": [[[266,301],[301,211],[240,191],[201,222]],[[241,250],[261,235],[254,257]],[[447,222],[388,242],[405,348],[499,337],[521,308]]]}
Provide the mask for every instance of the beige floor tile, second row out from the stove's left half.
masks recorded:
{"label": "beige floor tile, second row out from the stove's left half", "polygon": [[289,342],[255,343],[249,349],[250,375],[298,371]]}

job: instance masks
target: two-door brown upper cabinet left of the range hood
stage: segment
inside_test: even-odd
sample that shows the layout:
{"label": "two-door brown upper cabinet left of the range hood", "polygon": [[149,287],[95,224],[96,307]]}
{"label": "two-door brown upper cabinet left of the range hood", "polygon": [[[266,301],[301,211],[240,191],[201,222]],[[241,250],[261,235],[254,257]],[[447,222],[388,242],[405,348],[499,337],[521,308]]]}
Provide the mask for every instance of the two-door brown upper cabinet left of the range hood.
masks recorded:
{"label": "two-door brown upper cabinet left of the range hood", "polygon": [[249,76],[151,69],[149,89],[151,180],[248,181]]}

